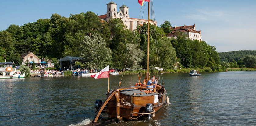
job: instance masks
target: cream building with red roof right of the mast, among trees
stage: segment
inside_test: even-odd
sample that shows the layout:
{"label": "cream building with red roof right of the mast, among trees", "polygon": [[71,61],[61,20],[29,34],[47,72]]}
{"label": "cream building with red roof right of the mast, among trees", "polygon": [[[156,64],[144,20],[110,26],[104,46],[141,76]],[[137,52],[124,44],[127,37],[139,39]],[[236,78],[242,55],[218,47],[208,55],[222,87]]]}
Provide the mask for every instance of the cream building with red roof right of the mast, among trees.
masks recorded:
{"label": "cream building with red roof right of the mast, among trees", "polygon": [[171,33],[167,34],[167,37],[169,38],[177,38],[177,35],[179,33],[182,33],[184,35],[187,35],[188,38],[190,38],[191,40],[199,40],[201,41],[201,30],[200,31],[196,31],[196,25],[190,25],[190,26],[174,26],[171,27],[170,29],[173,29],[173,31],[171,31]]}

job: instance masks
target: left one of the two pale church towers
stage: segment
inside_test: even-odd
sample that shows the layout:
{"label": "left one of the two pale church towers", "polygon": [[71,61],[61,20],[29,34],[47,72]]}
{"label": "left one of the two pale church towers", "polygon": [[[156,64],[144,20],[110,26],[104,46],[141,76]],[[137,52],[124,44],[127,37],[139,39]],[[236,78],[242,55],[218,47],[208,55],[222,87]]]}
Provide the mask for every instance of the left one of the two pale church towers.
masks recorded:
{"label": "left one of the two pale church towers", "polygon": [[114,3],[113,1],[109,2],[107,4],[107,22],[108,20],[112,19],[112,18],[116,18],[117,16],[117,8],[116,8],[117,4]]}

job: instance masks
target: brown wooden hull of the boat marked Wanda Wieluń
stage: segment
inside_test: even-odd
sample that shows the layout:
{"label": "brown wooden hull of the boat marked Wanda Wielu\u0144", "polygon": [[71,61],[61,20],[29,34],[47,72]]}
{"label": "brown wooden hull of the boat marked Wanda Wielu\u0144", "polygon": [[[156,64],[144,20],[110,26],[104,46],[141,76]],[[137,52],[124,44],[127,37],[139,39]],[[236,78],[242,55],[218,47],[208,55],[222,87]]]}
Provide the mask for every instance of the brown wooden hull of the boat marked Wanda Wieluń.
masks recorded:
{"label": "brown wooden hull of the boat marked Wanda Wielu\u0144", "polygon": [[[157,112],[166,101],[166,91],[164,89],[162,91],[162,94],[152,93],[150,96],[131,96],[120,93],[120,117],[125,120],[137,120],[139,116],[148,116],[148,114],[138,114],[147,113],[146,104],[148,103],[151,103],[153,110]],[[109,118],[116,117],[116,98],[114,96],[107,103],[106,110]]]}

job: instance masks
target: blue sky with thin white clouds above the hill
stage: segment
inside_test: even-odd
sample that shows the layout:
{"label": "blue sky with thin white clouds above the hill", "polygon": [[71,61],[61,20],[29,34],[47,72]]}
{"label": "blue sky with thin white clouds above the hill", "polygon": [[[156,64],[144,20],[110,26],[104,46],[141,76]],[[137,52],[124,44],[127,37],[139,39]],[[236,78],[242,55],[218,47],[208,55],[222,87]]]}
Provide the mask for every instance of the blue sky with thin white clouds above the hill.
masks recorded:
{"label": "blue sky with thin white clouds above the hill", "polygon": [[[113,0],[119,7],[129,7],[130,18],[139,18],[138,0]],[[57,13],[70,14],[94,12],[103,15],[111,0],[0,0],[0,31],[10,24],[22,26],[48,19]],[[255,0],[153,0],[155,20],[160,26],[165,20],[172,26],[196,25],[202,40],[215,46],[218,52],[256,50]],[[146,4],[147,5],[147,4]],[[142,9],[143,10],[143,9]],[[146,9],[144,18],[146,19]]]}

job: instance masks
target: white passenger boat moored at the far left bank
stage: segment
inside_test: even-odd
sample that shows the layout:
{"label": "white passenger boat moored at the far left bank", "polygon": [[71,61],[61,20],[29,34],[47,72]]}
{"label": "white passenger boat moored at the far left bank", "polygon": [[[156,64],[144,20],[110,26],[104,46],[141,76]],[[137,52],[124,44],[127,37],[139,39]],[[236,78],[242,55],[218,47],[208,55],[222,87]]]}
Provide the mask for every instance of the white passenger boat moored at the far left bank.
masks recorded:
{"label": "white passenger boat moored at the far left bank", "polygon": [[16,71],[16,64],[12,62],[1,62],[0,63],[0,79],[4,78],[24,78],[25,74]]}

